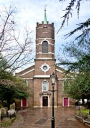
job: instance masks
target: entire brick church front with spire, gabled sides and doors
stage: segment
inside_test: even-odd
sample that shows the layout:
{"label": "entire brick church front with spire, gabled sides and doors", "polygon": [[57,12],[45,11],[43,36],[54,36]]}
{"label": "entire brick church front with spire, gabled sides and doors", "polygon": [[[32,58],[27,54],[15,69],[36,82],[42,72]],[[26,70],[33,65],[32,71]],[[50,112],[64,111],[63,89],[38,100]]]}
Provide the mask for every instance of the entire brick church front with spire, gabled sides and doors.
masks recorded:
{"label": "entire brick church front with spire, gabled sides and doors", "polygon": [[27,82],[30,97],[21,100],[21,107],[50,107],[52,89],[50,75],[57,75],[55,83],[55,106],[70,106],[72,100],[64,94],[63,69],[55,65],[55,31],[54,23],[49,24],[44,14],[44,21],[36,26],[36,58],[35,64],[16,73]]}

